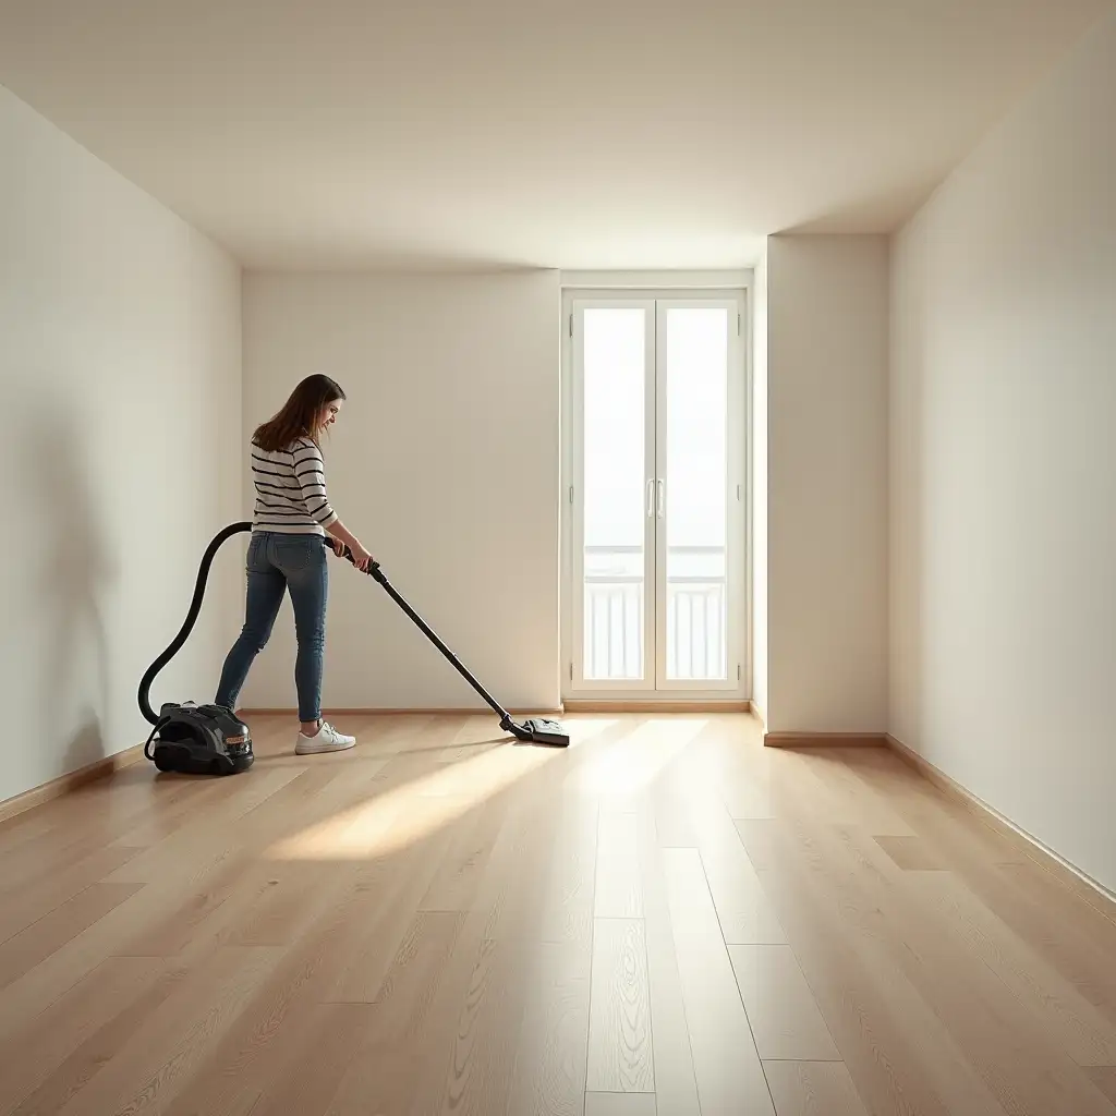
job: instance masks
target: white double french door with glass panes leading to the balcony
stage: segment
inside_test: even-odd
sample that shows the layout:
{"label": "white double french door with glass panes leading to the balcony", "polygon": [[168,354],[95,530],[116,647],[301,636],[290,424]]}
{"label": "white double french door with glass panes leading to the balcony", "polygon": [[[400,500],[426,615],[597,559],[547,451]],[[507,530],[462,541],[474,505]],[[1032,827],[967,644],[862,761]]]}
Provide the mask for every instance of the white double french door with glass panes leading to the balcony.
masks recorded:
{"label": "white double french door with glass panes leading to the balcony", "polygon": [[743,292],[568,292],[567,699],[744,698]]}

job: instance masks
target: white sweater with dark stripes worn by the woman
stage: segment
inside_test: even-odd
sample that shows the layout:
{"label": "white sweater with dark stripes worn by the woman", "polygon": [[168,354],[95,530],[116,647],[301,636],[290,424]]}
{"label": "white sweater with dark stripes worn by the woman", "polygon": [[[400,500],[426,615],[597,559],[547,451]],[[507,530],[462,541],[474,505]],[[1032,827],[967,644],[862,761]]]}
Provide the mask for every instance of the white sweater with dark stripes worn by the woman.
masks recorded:
{"label": "white sweater with dark stripes worn by the woman", "polygon": [[308,437],[275,452],[252,443],[252,481],[253,530],[325,535],[325,528],[337,520],[326,497],[321,451]]}

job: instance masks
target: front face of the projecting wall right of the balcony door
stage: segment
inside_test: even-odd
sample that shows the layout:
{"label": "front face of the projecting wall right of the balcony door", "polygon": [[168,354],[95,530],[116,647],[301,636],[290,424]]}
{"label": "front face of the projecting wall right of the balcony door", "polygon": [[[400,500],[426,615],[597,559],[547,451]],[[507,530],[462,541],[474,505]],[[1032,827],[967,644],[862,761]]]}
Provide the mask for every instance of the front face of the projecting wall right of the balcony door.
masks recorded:
{"label": "front face of the projecting wall right of the balcony door", "polygon": [[769,732],[887,725],[887,242],[768,241]]}

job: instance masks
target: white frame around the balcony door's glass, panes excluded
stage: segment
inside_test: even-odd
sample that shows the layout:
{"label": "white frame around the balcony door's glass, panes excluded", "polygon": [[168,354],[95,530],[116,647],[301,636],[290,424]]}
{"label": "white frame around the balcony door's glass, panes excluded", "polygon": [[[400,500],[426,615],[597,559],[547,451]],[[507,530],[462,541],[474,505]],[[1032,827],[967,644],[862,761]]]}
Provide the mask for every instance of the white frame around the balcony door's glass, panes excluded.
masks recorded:
{"label": "white frame around the balcony door's glass, panes excluded", "polygon": [[[751,568],[752,568],[752,539],[751,539],[751,454],[749,446],[751,442],[751,346],[750,346],[750,291],[748,283],[731,288],[710,286],[708,288],[686,287],[643,287],[637,283],[624,287],[604,286],[591,288],[588,286],[570,287],[562,291],[561,305],[561,693],[564,701],[586,701],[586,700],[608,700],[608,701],[638,701],[638,702],[674,702],[690,701],[701,703],[715,702],[740,702],[751,698],[752,664],[751,664]],[[583,576],[584,554],[578,546],[579,531],[577,529],[577,516],[573,497],[581,491],[581,462],[584,455],[579,452],[578,432],[580,423],[577,420],[579,414],[580,398],[576,397],[579,389],[577,377],[575,376],[575,348],[578,331],[575,329],[578,317],[579,305],[591,304],[594,301],[606,302],[612,306],[623,305],[648,305],[654,301],[677,305],[724,305],[731,300],[737,305],[739,314],[739,331],[733,338],[735,344],[730,344],[730,373],[729,373],[729,406],[734,412],[737,429],[740,436],[730,439],[730,483],[740,485],[739,501],[733,501],[734,513],[730,512],[729,526],[731,537],[728,540],[729,555],[735,555],[735,567],[728,570],[728,609],[735,623],[730,628],[731,638],[729,643],[728,680],[723,683],[709,682],[685,682],[676,681],[668,683],[667,689],[656,689],[658,679],[665,676],[664,656],[665,644],[660,633],[650,638],[651,629],[646,623],[644,627],[645,643],[653,648],[654,658],[645,664],[645,677],[637,684],[625,684],[623,682],[596,682],[587,681],[577,676],[578,671],[575,664],[580,660],[580,655],[575,654],[575,648],[580,646],[584,617],[576,615],[575,603],[579,599],[576,587]],[[652,321],[652,341],[656,350],[660,348],[661,326],[656,327],[654,315]],[[661,394],[661,381],[664,375],[665,360],[655,357],[656,369],[656,394]],[[658,408],[657,421],[664,422],[663,408]],[[648,446],[648,453],[654,452],[654,446],[658,441],[658,432],[652,425],[656,419],[654,412],[648,416],[648,437],[654,439]],[[650,474],[648,474],[650,475]],[[730,488],[730,500],[734,496]],[[658,548],[665,546],[665,533],[656,531],[654,519],[648,519],[648,532],[645,535],[645,545],[657,545]],[[658,542],[655,543],[656,537]],[[742,560],[741,560],[742,559]],[[648,585],[645,594],[645,617],[655,616],[660,628],[665,631],[665,609],[662,602],[657,602],[656,594],[665,591],[660,589],[660,583],[665,585],[665,579],[657,576],[658,561],[661,555],[655,555],[654,560],[648,562],[648,568],[654,575],[654,580]],[[664,567],[665,568],[665,567]]]}

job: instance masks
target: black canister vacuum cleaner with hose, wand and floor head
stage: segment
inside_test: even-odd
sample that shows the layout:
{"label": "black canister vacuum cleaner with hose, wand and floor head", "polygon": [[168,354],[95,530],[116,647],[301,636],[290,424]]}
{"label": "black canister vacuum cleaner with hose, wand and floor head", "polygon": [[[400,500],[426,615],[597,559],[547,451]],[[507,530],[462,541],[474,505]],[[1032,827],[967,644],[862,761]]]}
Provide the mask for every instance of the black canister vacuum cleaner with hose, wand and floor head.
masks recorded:
{"label": "black canister vacuum cleaner with hose, wand and floor head", "polygon": [[[152,683],[158,672],[182,648],[198,620],[202,598],[205,595],[205,583],[209,579],[210,567],[213,565],[213,558],[218,550],[233,535],[251,530],[251,522],[230,523],[210,541],[198,568],[194,595],[190,602],[186,618],[179,629],[179,634],[158,658],[147,667],[140,683],[140,712],[144,720],[152,725],[151,735],[144,744],[144,756],[160,771],[174,771],[182,775],[237,775],[247,771],[252,766],[254,757],[251,732],[233,710],[225,709],[223,705],[170,702],[156,713],[151,705]],[[326,545],[325,540],[323,545]],[[354,566],[356,565],[348,547],[345,548],[345,557]],[[547,744],[552,748],[567,748],[569,745],[569,734],[557,721],[529,718],[519,723],[512,720],[511,714],[481,685],[419,613],[404,600],[398,590],[387,580],[379,564],[369,562],[367,573],[484,699],[485,703],[500,718],[500,728],[504,732],[523,743]]]}

